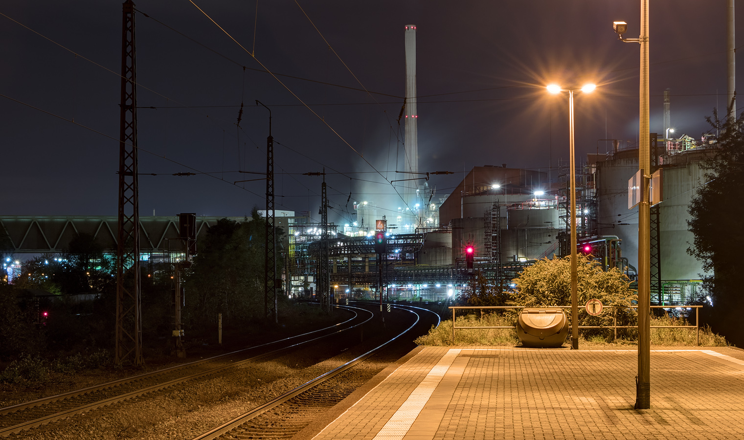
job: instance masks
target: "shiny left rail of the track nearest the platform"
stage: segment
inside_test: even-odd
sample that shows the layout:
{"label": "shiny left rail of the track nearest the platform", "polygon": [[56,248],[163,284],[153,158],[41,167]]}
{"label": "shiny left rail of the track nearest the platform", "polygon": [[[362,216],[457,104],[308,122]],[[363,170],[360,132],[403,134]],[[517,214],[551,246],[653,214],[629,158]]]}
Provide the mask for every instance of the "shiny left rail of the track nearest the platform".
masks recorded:
{"label": "shiny left rail of the track nearest the platform", "polygon": [[[225,433],[230,432],[231,430],[234,430],[236,427],[239,427],[241,424],[246,423],[247,421],[250,421],[251,418],[255,418],[258,415],[263,414],[266,411],[271,410],[274,407],[277,407],[280,404],[285,403],[286,401],[289,401],[289,399],[300,395],[301,393],[307,391],[308,389],[317,386],[318,384],[323,383],[324,381],[327,381],[330,378],[333,378],[333,376],[339,375],[339,373],[346,371],[347,369],[350,369],[352,366],[356,365],[356,363],[359,363],[359,361],[364,360],[367,357],[370,357],[375,352],[379,351],[383,347],[387,346],[389,343],[393,342],[394,340],[397,340],[398,338],[402,337],[403,334],[407,333],[408,331],[411,331],[411,329],[416,326],[419,321],[421,320],[420,314],[417,311],[409,310],[408,308],[405,308],[406,306],[400,306],[400,305],[394,305],[394,308],[399,308],[400,310],[409,311],[412,314],[416,316],[416,320],[414,321],[411,326],[408,327],[408,329],[405,329],[404,331],[400,332],[395,337],[392,337],[391,339],[387,340],[385,343],[380,344],[379,346],[376,346],[374,349],[371,349],[370,351],[366,352],[363,355],[359,355],[358,357],[355,357],[354,359],[348,361],[347,363],[344,363],[341,366],[337,366],[336,368],[330,370],[329,372],[325,372],[322,375],[319,375],[317,378],[314,378],[310,381],[307,381],[306,383],[296,387],[295,389],[292,389],[288,392],[285,392],[283,395],[278,396],[277,398],[273,398],[271,401],[266,402],[263,405],[260,405],[259,407],[255,407],[253,410],[250,410],[248,412],[243,413],[242,415],[238,415],[236,418],[233,418],[231,421],[227,421],[218,427],[215,427],[211,430],[209,430],[206,433],[202,433],[199,436],[193,437],[191,440],[215,440],[218,439],[219,436],[222,436]],[[417,308],[413,306],[408,306],[411,308]],[[426,310],[426,309],[422,309]],[[434,312],[432,312],[434,313]]]}

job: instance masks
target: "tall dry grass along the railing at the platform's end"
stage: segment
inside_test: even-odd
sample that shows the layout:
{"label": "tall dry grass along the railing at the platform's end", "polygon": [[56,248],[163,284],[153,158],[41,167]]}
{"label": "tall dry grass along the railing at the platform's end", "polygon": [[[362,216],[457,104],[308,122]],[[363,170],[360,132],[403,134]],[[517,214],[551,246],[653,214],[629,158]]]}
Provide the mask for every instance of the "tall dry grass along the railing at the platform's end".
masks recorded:
{"label": "tall dry grass along the railing at the platform's end", "polygon": [[[486,314],[482,319],[475,314],[457,317],[457,326],[514,326],[514,315]],[[652,317],[652,326],[689,326],[684,318]],[[620,332],[620,330],[618,330]],[[583,338],[586,346],[635,346],[635,331],[626,331],[626,337],[613,340],[612,330],[603,331],[606,336],[593,334]],[[519,346],[514,329],[457,329],[455,338],[458,346]],[[432,327],[429,334],[418,337],[415,343],[421,346],[452,346],[452,320],[442,321],[437,328]],[[655,346],[695,346],[695,329],[651,329],[651,345]],[[728,346],[725,337],[715,334],[710,326],[700,327],[700,346]]]}

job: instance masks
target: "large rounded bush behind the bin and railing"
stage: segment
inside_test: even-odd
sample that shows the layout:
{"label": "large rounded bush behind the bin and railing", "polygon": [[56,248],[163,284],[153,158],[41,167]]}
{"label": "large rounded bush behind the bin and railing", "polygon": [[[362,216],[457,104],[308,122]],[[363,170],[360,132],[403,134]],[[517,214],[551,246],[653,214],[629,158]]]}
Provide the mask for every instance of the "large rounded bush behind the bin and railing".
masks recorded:
{"label": "large rounded bush behind the bin and railing", "polygon": [[[630,288],[630,280],[617,268],[603,271],[600,264],[589,255],[577,255],[577,297],[579,308],[592,298],[606,307],[617,307],[618,325],[631,323],[637,316],[633,308],[638,293]],[[514,305],[548,307],[571,304],[571,257],[542,259],[525,268],[514,279],[516,289],[511,293]],[[580,326],[612,326],[613,314],[593,317],[586,312],[579,314]],[[597,331],[583,331],[583,334]],[[597,333],[598,334],[598,333]],[[606,332],[605,332],[606,335]]]}

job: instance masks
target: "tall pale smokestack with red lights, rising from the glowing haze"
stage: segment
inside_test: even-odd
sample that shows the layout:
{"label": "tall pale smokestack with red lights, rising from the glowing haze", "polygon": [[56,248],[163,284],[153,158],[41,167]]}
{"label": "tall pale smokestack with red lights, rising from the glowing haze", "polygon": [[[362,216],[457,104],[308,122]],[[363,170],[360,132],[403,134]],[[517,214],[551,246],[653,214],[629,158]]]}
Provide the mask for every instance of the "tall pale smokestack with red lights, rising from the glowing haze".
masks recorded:
{"label": "tall pale smokestack with red lights, rising from the glowing haze", "polygon": [[[405,26],[405,172],[418,172],[418,111],[416,109],[416,25]],[[406,178],[417,178],[409,174]],[[405,182],[405,203],[414,210],[417,181]]]}

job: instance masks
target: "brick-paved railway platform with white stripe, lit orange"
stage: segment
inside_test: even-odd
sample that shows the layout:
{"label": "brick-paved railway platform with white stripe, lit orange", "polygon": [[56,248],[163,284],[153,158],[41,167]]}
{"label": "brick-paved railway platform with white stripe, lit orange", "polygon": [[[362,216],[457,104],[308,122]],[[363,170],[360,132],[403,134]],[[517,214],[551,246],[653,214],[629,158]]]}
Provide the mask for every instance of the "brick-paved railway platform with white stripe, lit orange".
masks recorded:
{"label": "brick-paved railway platform with white stripe, lit orange", "polygon": [[306,436],[744,439],[743,350],[652,347],[649,410],[633,409],[637,359],[635,347],[417,347]]}

